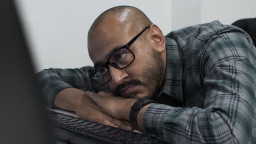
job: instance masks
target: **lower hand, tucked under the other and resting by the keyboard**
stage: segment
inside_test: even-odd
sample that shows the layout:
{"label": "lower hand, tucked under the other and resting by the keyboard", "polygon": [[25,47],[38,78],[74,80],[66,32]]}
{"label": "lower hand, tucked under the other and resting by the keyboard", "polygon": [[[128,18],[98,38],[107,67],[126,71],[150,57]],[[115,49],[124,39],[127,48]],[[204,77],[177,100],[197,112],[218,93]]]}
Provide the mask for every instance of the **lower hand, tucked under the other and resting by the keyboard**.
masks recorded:
{"label": "lower hand, tucked under the other and resting by the keyboard", "polygon": [[82,100],[80,100],[74,111],[82,119],[126,130],[133,129],[131,124],[120,121],[105,113],[86,93],[84,93]]}

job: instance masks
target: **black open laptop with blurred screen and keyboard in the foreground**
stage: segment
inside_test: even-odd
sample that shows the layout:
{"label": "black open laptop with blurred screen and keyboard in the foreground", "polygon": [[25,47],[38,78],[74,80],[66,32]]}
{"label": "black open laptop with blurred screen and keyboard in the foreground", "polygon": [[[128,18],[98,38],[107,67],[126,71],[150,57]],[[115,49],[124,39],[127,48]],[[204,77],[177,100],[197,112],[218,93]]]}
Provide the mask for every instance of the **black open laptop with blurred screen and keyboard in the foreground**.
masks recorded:
{"label": "black open laptop with blurred screen and keyboard in the foreground", "polygon": [[14,1],[0,1],[0,143],[164,143],[44,109]]}

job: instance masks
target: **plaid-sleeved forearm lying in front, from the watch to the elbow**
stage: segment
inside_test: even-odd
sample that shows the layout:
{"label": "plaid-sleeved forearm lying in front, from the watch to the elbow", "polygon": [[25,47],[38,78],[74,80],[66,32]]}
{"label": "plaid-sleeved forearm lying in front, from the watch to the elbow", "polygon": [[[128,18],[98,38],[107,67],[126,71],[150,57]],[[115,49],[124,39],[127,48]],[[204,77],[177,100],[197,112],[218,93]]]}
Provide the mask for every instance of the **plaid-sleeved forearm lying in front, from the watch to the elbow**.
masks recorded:
{"label": "plaid-sleeved forearm lying in front, from the watch to the elbow", "polygon": [[144,127],[170,143],[252,143],[253,116],[244,110],[236,119],[211,107],[171,107],[153,104],[144,113]]}

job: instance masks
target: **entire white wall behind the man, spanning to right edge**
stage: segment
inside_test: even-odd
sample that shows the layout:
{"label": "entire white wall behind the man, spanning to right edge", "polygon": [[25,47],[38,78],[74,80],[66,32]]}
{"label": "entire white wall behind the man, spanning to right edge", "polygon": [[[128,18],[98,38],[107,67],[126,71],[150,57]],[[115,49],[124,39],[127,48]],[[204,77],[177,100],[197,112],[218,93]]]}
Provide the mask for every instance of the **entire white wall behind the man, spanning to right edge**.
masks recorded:
{"label": "entire white wall behind the man, spanning to right edge", "polygon": [[16,0],[26,28],[36,70],[93,65],[87,52],[91,23],[117,5],[141,9],[164,34],[219,20],[230,24],[256,17],[255,0]]}

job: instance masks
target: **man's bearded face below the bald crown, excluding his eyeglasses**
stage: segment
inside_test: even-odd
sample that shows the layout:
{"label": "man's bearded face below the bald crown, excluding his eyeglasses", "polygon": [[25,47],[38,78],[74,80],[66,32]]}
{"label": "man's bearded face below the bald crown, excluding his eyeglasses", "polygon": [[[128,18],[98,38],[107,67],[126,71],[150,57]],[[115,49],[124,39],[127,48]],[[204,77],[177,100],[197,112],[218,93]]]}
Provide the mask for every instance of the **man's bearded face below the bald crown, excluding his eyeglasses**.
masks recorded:
{"label": "man's bearded face below the bald crown, excluding his eyeglasses", "polygon": [[[132,32],[121,34],[114,31],[115,29],[112,29],[111,34],[101,31],[97,34],[97,38],[90,41],[89,53],[95,64],[106,63],[108,59],[106,56],[114,47],[126,44],[137,34]],[[142,39],[146,37],[147,31],[148,29],[130,46],[136,58],[129,67],[117,69],[108,65],[112,79],[107,84],[115,95],[126,98],[150,98],[159,88],[164,73],[164,61],[160,53],[147,40]]]}

